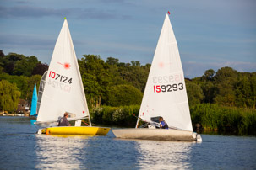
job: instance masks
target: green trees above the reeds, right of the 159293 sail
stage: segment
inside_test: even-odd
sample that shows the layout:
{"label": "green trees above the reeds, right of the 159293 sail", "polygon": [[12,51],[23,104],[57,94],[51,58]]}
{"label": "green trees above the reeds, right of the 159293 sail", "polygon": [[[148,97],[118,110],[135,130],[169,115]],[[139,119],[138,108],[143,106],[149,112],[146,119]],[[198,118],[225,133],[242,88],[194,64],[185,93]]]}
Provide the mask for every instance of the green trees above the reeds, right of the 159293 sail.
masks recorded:
{"label": "green trees above the reeds, right of the 159293 sail", "polygon": [[207,70],[192,82],[203,90],[201,103],[255,109],[256,72],[237,72],[231,67],[222,67],[217,72]]}

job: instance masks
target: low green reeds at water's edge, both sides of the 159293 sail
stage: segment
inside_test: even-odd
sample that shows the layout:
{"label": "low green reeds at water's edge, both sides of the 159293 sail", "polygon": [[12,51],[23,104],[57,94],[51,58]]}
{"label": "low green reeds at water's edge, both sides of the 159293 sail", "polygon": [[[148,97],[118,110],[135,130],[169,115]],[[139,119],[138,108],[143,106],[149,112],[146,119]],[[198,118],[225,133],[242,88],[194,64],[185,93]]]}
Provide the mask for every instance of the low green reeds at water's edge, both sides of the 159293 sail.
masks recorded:
{"label": "low green reeds at water's edge, both sides of the 159293 sail", "polygon": [[[90,116],[95,124],[134,128],[139,107],[139,105],[101,106],[90,109]],[[255,109],[226,107],[217,104],[197,104],[190,108],[190,113],[193,131],[230,135],[256,135]]]}

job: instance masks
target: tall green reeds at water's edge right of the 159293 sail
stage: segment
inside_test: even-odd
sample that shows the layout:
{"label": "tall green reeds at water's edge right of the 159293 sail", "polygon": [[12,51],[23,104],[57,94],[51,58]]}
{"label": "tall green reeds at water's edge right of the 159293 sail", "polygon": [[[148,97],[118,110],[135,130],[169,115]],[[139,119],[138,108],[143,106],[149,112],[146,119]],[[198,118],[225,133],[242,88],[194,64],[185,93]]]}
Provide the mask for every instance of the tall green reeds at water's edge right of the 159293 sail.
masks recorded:
{"label": "tall green reeds at water's edge right of the 159293 sail", "polygon": [[198,104],[190,108],[193,124],[203,130],[236,135],[256,135],[256,110],[226,107],[217,104]]}

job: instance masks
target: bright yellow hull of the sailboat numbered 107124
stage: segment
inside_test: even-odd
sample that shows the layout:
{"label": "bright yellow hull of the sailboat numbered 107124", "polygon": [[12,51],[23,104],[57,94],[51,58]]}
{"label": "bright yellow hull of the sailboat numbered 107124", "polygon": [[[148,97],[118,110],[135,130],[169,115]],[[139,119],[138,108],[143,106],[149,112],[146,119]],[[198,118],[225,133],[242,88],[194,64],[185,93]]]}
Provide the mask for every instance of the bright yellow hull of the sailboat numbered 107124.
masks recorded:
{"label": "bright yellow hull of the sailboat numbered 107124", "polygon": [[41,130],[46,135],[106,135],[110,128],[91,126],[58,126]]}

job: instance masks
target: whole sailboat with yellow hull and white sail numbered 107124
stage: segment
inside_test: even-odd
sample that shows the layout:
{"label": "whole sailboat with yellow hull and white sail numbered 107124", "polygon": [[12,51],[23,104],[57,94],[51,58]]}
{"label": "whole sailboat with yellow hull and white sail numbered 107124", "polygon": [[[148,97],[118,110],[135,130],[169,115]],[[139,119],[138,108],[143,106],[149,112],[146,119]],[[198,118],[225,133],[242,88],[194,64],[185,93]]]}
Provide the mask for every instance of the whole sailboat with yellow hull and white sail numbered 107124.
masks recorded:
{"label": "whole sailboat with yellow hull and white sail numbered 107124", "polygon": [[[106,135],[110,128],[92,127],[84,86],[79,72],[73,41],[67,19],[57,38],[48,71],[43,76],[44,86],[35,124],[46,126],[39,133],[57,135]],[[75,126],[57,126],[57,121],[68,113],[68,120],[76,120]],[[88,119],[90,126],[81,126]],[[50,126],[50,127],[49,127]]]}

